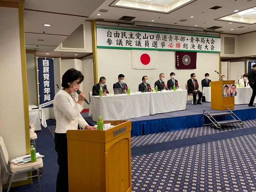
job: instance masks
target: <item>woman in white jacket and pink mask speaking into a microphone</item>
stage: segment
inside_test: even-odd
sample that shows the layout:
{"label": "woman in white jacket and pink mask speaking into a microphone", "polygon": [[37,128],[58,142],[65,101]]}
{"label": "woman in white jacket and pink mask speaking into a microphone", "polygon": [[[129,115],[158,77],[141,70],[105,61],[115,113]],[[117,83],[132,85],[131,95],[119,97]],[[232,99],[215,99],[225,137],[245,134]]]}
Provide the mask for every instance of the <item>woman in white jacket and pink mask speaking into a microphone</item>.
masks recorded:
{"label": "woman in white jacket and pink mask speaking into a microphone", "polygon": [[76,69],[67,70],[62,76],[62,87],[55,95],[53,109],[56,119],[56,129],[54,134],[55,150],[58,154],[59,171],[57,175],[56,191],[68,192],[68,143],[66,131],[69,129],[97,129],[89,126],[80,112],[85,99],[85,94],[78,95],[78,101],[72,94],[80,89],[80,84],[84,80],[84,75]]}

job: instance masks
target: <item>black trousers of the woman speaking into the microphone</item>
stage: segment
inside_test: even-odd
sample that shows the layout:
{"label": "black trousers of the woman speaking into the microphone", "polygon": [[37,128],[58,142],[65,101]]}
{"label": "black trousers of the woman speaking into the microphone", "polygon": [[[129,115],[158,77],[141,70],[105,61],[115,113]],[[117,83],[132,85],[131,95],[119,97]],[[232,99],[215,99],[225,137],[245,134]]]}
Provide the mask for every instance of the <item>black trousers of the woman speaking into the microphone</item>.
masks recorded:
{"label": "black trousers of the woman speaking into the microphone", "polygon": [[54,134],[55,151],[58,154],[59,171],[56,181],[56,192],[68,192],[68,140],[66,133]]}

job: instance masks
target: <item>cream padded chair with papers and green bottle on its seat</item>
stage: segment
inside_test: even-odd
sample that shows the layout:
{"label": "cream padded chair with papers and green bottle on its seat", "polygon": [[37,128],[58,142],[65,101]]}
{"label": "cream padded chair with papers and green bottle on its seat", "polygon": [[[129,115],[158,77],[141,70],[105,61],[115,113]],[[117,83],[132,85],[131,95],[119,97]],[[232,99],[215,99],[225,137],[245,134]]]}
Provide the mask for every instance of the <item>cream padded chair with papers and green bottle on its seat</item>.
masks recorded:
{"label": "cream padded chair with papers and green bottle on its seat", "polygon": [[[9,162],[9,155],[8,155],[5,143],[4,143],[4,139],[2,137],[0,137],[0,153],[1,153],[2,162],[3,162],[4,167],[5,167],[5,171],[9,175],[7,183],[6,183],[6,187],[5,187],[5,190],[8,187],[7,192],[9,192],[10,187],[11,187],[11,183],[13,181],[19,181],[19,180],[23,180],[25,178],[30,178],[30,177],[37,177],[38,178],[40,191],[42,192],[40,174],[39,174],[39,168],[43,167],[42,158],[37,159],[36,162],[27,162],[23,165],[16,165],[12,162],[10,163]],[[30,176],[30,177],[23,177],[23,178],[20,178],[20,179],[13,180],[14,176],[17,175],[17,174],[31,172],[31,171],[34,171],[34,170],[37,171],[37,175]]]}

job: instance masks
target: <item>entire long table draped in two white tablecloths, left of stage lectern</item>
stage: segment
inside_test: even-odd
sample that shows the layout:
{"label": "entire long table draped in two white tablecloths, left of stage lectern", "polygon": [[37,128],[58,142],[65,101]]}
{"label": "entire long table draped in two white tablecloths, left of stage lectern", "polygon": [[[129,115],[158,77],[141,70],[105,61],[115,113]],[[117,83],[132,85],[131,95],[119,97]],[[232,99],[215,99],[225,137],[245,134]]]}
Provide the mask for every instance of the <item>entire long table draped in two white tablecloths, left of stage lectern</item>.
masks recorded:
{"label": "entire long table draped in two white tablecloths, left of stage lectern", "polygon": [[186,109],[187,91],[131,93],[113,96],[92,96],[89,116],[97,121],[98,116],[107,120],[129,119],[150,114]]}

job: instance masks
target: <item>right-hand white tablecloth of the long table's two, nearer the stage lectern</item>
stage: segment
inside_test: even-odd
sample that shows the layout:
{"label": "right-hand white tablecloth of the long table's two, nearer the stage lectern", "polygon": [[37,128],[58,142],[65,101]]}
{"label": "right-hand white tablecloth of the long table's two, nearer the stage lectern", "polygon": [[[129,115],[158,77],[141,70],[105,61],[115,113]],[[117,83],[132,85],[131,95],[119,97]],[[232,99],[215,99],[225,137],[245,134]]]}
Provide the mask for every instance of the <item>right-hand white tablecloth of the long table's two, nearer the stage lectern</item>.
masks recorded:
{"label": "right-hand white tablecloth of the long table's two, nearer the stage lectern", "polygon": [[187,90],[150,94],[150,114],[185,110],[186,104]]}

